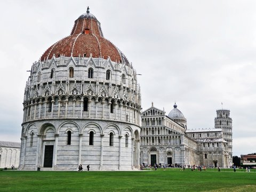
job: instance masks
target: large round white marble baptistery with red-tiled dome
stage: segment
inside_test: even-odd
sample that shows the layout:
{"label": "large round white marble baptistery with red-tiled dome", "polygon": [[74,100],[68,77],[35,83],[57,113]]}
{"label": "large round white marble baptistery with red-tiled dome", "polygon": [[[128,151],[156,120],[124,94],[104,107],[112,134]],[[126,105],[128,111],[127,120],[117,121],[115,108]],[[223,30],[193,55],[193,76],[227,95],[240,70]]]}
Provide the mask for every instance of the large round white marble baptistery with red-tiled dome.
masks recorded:
{"label": "large round white marble baptistery with red-tiled dome", "polygon": [[134,67],[88,7],[31,66],[19,169],[138,169],[140,110]]}

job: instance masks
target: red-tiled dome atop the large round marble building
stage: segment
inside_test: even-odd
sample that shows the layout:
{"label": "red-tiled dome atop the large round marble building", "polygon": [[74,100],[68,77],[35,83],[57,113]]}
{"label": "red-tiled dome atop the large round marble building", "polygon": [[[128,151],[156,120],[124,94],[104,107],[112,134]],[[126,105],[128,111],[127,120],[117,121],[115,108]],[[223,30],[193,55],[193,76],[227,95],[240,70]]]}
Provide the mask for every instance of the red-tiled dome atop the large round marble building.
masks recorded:
{"label": "red-tiled dome atop the large round marble building", "polygon": [[112,61],[128,62],[124,55],[115,45],[105,39],[102,35],[100,22],[89,8],[76,21],[68,37],[65,37],[47,49],[41,60],[51,59],[53,55],[60,57],[90,57],[104,58],[110,57]]}

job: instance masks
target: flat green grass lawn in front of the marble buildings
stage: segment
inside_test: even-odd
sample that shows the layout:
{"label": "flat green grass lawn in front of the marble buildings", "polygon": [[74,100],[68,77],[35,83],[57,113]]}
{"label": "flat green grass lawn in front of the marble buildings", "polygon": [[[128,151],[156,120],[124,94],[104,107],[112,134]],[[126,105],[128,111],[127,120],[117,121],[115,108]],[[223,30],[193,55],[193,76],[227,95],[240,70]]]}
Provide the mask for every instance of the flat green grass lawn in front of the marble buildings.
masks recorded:
{"label": "flat green grass lawn in front of the marble buildings", "polygon": [[256,191],[256,172],[0,171],[0,191]]}

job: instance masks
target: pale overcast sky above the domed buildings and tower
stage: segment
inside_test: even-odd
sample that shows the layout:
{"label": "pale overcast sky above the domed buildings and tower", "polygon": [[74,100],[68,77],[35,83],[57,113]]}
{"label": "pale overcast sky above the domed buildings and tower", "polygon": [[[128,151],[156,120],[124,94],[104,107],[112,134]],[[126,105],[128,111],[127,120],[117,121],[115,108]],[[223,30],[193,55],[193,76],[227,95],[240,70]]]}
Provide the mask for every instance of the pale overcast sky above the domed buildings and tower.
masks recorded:
{"label": "pale overcast sky above the domed buildings and tower", "polygon": [[256,1],[2,2],[0,140],[20,142],[27,70],[87,6],[142,74],[143,109],[153,101],[168,115],[177,102],[188,129],[208,129],[222,102],[233,155],[256,153]]}

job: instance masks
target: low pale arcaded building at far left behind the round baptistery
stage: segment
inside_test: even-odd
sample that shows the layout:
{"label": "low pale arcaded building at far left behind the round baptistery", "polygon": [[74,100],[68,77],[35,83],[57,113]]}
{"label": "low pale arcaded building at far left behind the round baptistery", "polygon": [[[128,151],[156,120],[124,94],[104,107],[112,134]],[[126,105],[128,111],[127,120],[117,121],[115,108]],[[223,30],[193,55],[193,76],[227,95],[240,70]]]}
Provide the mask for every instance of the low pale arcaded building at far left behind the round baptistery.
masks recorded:
{"label": "low pale arcaded building at far left behind the round baptistery", "polygon": [[20,143],[0,141],[0,168],[19,166]]}

